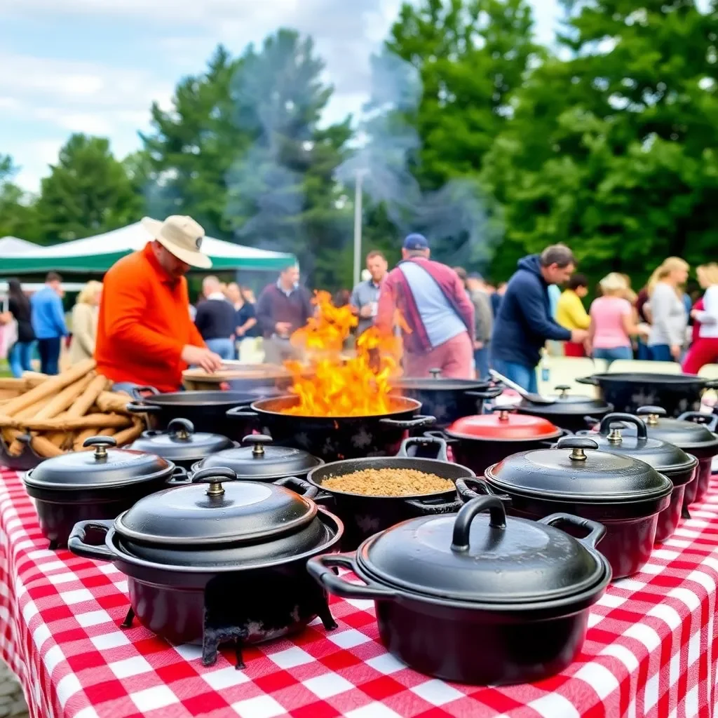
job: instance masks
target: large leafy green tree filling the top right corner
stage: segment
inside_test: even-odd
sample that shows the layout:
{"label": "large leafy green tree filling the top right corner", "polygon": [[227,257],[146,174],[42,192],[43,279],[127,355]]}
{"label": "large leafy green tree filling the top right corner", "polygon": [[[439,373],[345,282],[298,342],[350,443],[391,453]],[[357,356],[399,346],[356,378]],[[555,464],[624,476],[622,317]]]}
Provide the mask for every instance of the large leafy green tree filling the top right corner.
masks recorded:
{"label": "large leafy green tree filling the top right corner", "polygon": [[585,271],[643,279],[668,255],[709,256],[718,201],[716,11],[692,0],[564,1],[561,43],[517,93],[482,179],[508,252],[569,243]]}

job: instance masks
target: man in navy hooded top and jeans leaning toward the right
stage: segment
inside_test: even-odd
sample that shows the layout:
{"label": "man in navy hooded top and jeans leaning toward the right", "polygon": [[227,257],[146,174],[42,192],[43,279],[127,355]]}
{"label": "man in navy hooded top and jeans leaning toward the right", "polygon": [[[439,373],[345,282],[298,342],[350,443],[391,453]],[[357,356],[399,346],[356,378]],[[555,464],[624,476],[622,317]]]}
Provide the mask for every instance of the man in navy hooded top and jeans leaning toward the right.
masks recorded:
{"label": "man in navy hooded top and jeans leaning toward the right", "polygon": [[571,250],[563,244],[518,261],[508,282],[491,339],[493,368],[527,391],[538,391],[536,365],[546,341],[583,342],[585,330],[569,331],[551,316],[549,285],[563,284],[576,269]]}

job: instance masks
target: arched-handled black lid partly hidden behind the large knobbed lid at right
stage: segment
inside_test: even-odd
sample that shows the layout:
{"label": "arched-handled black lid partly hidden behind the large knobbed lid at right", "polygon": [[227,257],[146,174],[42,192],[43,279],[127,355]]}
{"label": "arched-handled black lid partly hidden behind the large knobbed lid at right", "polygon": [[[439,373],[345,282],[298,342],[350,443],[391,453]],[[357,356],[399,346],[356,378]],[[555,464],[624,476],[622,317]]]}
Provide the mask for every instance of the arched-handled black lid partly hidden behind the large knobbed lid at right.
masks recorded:
{"label": "arched-handled black lid partly hidden behind the large knobbed lid at right", "polygon": [[[625,424],[632,426],[635,434],[624,432]],[[689,456],[675,444],[649,438],[643,419],[632,414],[606,414],[598,432],[592,432],[589,438],[602,451],[626,454],[666,474],[687,472],[698,463],[695,457]]]}

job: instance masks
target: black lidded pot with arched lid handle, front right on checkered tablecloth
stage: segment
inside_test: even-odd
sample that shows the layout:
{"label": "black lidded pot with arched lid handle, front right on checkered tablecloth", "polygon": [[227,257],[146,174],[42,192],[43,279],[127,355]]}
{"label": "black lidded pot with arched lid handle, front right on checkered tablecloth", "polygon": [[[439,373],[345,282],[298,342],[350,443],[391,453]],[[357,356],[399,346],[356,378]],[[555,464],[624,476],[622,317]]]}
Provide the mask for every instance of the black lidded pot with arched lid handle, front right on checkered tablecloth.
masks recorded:
{"label": "black lidded pot with arched lid handle, front right on checkered tablecloth", "polygon": [[[611,579],[595,548],[604,532],[565,513],[507,518],[498,498],[484,496],[458,515],[405,521],[356,554],[319,556],[307,568],[331,593],[374,600],[382,642],[416,671],[467,684],[528,683],[579,655],[589,609]],[[338,577],[337,566],[366,585]]]}

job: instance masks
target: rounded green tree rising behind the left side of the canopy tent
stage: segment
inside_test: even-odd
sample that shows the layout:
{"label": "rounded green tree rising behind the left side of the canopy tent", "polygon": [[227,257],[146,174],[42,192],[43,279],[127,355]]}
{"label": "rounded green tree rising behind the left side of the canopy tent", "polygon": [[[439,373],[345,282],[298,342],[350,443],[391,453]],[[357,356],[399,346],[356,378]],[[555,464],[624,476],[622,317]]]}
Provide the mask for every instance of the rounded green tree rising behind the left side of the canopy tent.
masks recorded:
{"label": "rounded green tree rising behind the left side of the canopy tent", "polygon": [[123,164],[103,137],[73,134],[42,180],[37,214],[48,241],[67,241],[135,222],[142,215]]}

